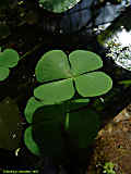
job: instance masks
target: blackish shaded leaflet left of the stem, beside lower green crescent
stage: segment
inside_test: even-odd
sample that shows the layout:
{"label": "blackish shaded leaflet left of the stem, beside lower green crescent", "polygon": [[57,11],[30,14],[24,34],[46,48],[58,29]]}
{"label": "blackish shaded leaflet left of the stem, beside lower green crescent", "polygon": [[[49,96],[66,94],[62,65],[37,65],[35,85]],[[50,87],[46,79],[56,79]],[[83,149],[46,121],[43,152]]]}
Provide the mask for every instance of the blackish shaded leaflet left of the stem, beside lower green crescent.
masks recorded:
{"label": "blackish shaded leaflet left of the stem, beside lower green crescent", "polygon": [[61,156],[63,139],[61,136],[61,124],[59,122],[52,120],[33,125],[33,135],[41,156],[51,158]]}

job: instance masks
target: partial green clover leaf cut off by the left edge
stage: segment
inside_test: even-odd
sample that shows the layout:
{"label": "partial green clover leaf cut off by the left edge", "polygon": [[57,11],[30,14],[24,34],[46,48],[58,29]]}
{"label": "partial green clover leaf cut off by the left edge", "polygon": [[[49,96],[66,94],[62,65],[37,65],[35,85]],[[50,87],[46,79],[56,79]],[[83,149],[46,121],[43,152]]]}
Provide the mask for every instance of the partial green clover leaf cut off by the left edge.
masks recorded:
{"label": "partial green clover leaf cut off by the left edge", "polygon": [[13,49],[5,49],[0,52],[0,82],[4,80],[10,73],[10,69],[14,67],[19,62],[19,53]]}

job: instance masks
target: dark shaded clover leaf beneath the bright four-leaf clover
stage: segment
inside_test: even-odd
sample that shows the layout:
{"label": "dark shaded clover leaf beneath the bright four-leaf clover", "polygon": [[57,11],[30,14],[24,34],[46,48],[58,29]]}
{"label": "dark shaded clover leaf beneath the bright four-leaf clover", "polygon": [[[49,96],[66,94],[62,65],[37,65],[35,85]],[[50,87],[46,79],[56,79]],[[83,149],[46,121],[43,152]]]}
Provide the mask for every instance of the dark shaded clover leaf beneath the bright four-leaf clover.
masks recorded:
{"label": "dark shaded clover leaf beneath the bright four-leaf clover", "polygon": [[[37,108],[32,116],[29,115],[31,126],[26,128],[24,134],[26,147],[36,156],[55,158],[63,156],[67,145],[79,150],[86,149],[97,135],[99,117],[90,109],[75,110],[86,103],[86,101],[84,103],[80,101],[71,101],[75,103],[75,107],[67,102]],[[28,105],[28,109],[25,110],[27,119],[32,108]],[[68,141],[62,136],[62,125],[69,135]]]}

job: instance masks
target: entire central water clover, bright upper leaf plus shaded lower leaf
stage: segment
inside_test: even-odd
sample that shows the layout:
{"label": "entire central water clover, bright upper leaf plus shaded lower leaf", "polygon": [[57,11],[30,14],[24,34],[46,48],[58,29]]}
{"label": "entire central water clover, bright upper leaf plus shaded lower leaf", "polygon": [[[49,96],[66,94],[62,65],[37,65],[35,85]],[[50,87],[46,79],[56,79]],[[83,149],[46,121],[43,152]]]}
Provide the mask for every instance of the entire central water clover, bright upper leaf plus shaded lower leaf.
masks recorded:
{"label": "entire central water clover, bright upper leaf plus shaded lower leaf", "polygon": [[98,115],[80,108],[90,102],[90,97],[104,95],[112,87],[111,78],[96,71],[100,67],[100,57],[84,50],[75,50],[69,57],[61,50],[52,50],[41,57],[35,69],[40,85],[25,108],[31,125],[24,141],[33,153],[62,154],[66,140],[61,126],[79,148],[91,144],[98,130]]}

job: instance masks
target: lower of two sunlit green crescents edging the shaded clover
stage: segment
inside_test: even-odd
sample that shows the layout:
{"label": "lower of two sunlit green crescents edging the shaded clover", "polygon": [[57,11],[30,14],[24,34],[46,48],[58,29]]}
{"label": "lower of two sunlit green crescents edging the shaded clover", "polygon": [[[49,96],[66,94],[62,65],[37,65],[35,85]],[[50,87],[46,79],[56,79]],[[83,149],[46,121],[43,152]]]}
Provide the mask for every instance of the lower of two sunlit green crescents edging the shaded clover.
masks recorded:
{"label": "lower of two sunlit green crescents edging the shaded clover", "polygon": [[36,154],[36,156],[40,156],[40,150],[38,145],[35,142],[34,138],[33,138],[33,127],[29,126],[25,129],[24,132],[24,142],[26,145],[26,147],[28,148],[28,150],[31,150],[32,153]]}

